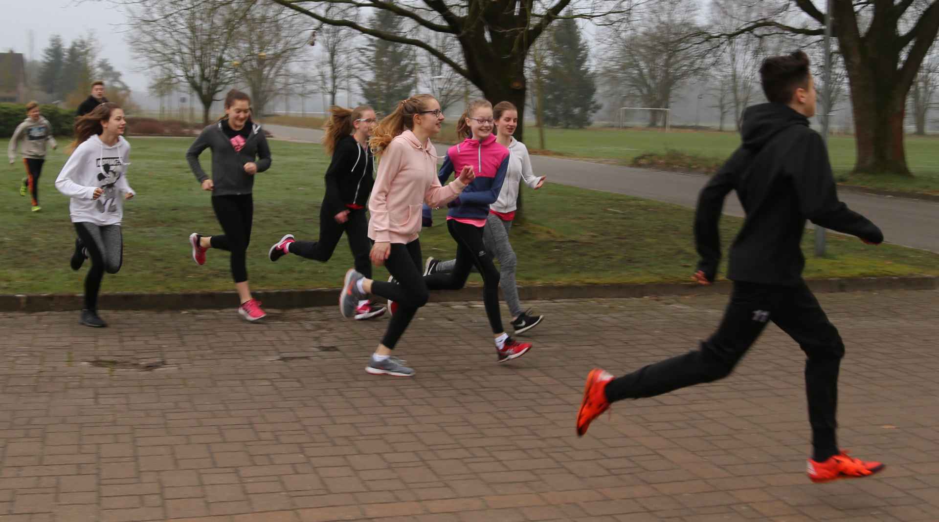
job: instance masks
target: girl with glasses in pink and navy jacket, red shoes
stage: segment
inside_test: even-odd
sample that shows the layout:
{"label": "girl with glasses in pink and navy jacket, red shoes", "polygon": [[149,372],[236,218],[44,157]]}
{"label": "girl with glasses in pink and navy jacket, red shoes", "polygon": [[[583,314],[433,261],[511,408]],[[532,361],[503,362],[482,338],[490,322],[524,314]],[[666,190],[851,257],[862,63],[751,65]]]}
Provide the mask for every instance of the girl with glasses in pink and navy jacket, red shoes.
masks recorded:
{"label": "girl with glasses in pink and navy jacket, red shoes", "polygon": [[470,102],[467,112],[456,123],[457,136],[466,140],[447,151],[438,174],[440,183],[467,166],[476,172],[476,179],[448,205],[447,230],[456,241],[453,271],[425,276],[424,282],[431,290],[459,290],[466,286],[469,272],[476,268],[483,276],[483,303],[495,337],[497,360],[504,363],[531,350],[531,343],[517,342],[502,328],[499,271],[483,241],[489,205],[499,198],[511,156],[509,149],[496,141],[492,133],[494,124],[492,104],[485,99]]}

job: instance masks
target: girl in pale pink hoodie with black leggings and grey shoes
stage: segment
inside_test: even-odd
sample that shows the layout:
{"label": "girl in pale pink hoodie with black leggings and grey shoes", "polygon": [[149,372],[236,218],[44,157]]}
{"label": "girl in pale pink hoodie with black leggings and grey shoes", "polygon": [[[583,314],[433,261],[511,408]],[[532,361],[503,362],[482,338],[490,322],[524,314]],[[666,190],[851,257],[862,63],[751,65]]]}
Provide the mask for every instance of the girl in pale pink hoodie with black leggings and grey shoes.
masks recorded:
{"label": "girl in pale pink hoodie with black leggings and grey shoes", "polygon": [[427,286],[421,270],[421,209],[423,203],[439,207],[453,201],[475,177],[471,167],[458,179],[441,186],[437,156],[430,137],[444,120],[439,102],[430,95],[409,97],[381,120],[370,144],[379,155],[378,175],[368,201],[371,219],[368,237],[375,242],[371,259],[385,265],[392,277],[387,283],[346,272],[339,308],[343,316],[355,316],[359,302],[369,294],[388,299],[392,321],[365,371],[375,375],[410,377],[414,370],[392,357],[398,339],[408,328],[417,309],[427,302]]}

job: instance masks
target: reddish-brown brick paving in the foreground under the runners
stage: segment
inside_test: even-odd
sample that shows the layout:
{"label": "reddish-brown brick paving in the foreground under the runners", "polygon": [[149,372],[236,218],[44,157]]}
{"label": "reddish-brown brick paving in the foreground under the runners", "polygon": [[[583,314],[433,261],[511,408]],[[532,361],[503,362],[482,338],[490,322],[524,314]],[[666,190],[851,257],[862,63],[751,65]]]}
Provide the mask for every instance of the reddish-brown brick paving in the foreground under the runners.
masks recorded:
{"label": "reddish-brown brick paving in the foreground under the runners", "polygon": [[577,439],[587,370],[693,347],[725,299],[541,303],[508,365],[481,306],[430,305],[411,380],[366,375],[385,320],[333,308],[0,315],[0,522],[939,520],[936,291],[821,296],[848,345],[840,440],[879,478],[808,483],[802,357],[775,327],[730,379]]}

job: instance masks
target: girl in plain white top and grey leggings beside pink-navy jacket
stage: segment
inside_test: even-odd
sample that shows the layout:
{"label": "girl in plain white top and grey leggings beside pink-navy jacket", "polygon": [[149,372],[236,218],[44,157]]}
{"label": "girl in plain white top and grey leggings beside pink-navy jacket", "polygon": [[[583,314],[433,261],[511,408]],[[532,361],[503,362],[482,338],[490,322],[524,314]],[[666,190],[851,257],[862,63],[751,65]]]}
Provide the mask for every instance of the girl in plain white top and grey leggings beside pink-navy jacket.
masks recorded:
{"label": "girl in plain white top and grey leggings beside pink-navy jacket", "polygon": [[[505,173],[505,183],[502,185],[499,199],[489,206],[489,215],[486,216],[483,230],[483,243],[499,259],[499,286],[502,289],[502,295],[505,296],[505,304],[509,306],[509,311],[512,313],[512,327],[518,335],[537,326],[544,316],[532,316],[522,311],[516,287],[516,252],[509,243],[509,230],[516,217],[519,184],[524,180],[526,185],[537,190],[545,184],[545,176],[534,175],[531,171],[528,148],[512,136],[518,127],[516,106],[508,101],[500,101],[493,108],[493,114],[496,119],[496,142],[508,147],[512,156],[509,157],[509,169]],[[451,272],[455,265],[455,260],[437,261],[434,258],[427,258],[424,274]]]}

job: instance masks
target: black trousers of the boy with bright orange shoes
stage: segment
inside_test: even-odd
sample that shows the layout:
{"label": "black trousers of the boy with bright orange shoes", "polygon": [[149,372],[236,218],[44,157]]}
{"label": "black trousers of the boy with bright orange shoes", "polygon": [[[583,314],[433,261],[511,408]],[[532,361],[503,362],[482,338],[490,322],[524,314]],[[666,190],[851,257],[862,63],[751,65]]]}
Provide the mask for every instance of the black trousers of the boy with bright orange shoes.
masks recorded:
{"label": "black trousers of the boy with bright orange shoes", "polygon": [[773,321],[806,354],[808,421],[813,458],[824,461],[839,453],[838,374],[844,343],[805,283],[797,287],[734,283],[731,302],[716,333],[700,350],[645,366],[607,385],[610,401],[667,394],[685,386],[723,379]]}

